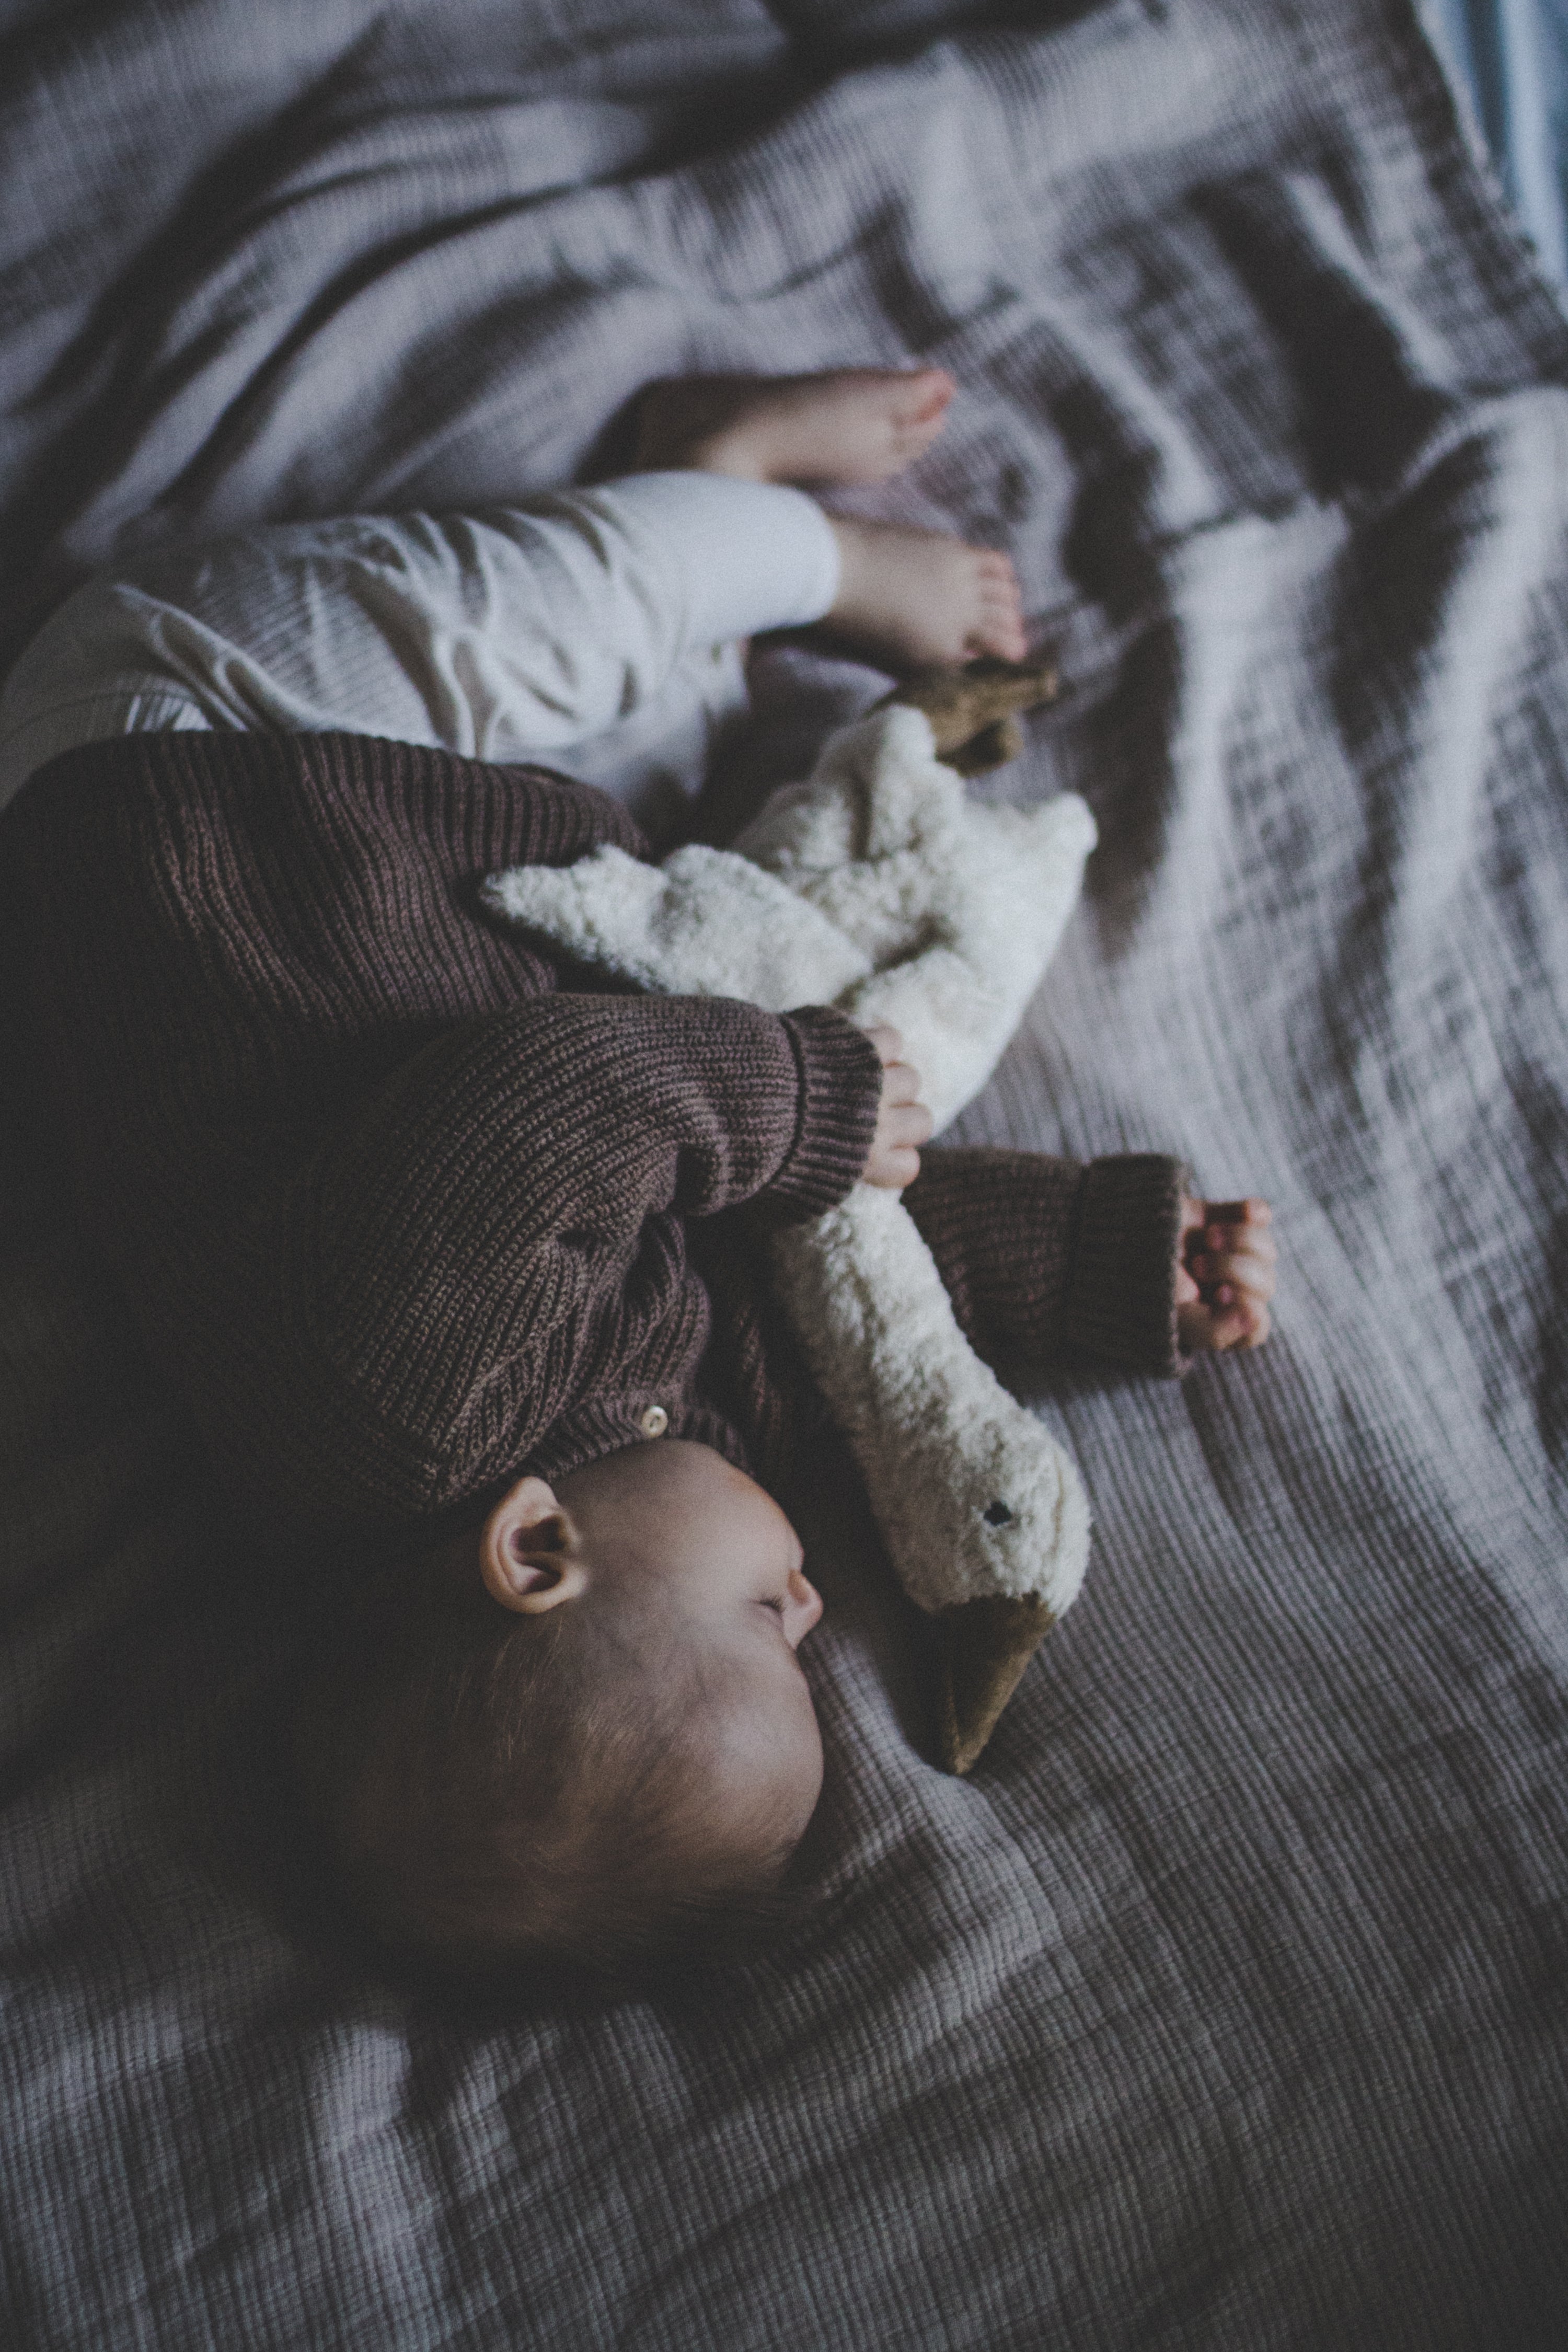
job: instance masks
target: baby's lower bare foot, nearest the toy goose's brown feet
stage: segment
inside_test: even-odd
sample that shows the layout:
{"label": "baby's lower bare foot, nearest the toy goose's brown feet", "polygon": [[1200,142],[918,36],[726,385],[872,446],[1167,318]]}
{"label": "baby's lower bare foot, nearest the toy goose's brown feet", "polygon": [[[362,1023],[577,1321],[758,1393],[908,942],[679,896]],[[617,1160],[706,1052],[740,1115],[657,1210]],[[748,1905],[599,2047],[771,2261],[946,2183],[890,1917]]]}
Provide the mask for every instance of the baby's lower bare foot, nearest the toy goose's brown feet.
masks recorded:
{"label": "baby's lower bare foot, nearest the toy goose's brown feet", "polygon": [[1006,555],[940,532],[830,515],[839,541],[839,593],[827,628],[891,668],[1023,661],[1027,640]]}

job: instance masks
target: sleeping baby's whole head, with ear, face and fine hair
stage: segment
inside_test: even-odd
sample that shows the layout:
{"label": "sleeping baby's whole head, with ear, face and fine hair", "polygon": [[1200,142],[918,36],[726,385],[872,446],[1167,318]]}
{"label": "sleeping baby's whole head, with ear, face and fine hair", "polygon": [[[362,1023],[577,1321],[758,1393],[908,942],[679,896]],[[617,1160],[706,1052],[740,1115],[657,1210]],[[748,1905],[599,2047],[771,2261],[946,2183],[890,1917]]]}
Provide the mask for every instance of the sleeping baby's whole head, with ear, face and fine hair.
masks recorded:
{"label": "sleeping baby's whole head, with ear, face and fine hair", "polygon": [[517,1479],[362,1604],[301,1710],[360,1910],[449,1964],[611,1973],[766,1912],[823,1785],[795,1656],[820,1613],[710,1446]]}

